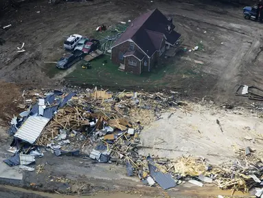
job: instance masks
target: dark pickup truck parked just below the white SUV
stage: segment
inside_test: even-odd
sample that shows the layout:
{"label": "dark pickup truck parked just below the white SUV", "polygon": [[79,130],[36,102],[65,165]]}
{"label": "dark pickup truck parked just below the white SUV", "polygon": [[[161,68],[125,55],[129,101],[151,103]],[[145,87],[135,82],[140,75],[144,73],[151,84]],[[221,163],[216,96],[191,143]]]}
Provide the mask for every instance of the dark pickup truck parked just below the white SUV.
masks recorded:
{"label": "dark pickup truck parked just below the white SUV", "polygon": [[80,61],[86,54],[81,50],[74,50],[71,53],[67,53],[65,56],[59,59],[56,63],[56,67],[59,69],[67,69],[71,67],[74,63]]}

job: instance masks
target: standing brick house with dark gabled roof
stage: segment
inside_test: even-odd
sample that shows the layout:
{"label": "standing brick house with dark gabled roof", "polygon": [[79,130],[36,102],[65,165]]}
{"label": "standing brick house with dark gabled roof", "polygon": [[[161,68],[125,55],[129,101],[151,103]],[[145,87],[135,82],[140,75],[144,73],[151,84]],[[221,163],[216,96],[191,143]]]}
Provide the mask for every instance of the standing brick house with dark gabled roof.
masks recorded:
{"label": "standing brick house with dark gabled roof", "polygon": [[174,46],[181,34],[174,31],[172,19],[158,9],[137,17],[111,47],[111,61],[133,74],[150,72],[166,49]]}

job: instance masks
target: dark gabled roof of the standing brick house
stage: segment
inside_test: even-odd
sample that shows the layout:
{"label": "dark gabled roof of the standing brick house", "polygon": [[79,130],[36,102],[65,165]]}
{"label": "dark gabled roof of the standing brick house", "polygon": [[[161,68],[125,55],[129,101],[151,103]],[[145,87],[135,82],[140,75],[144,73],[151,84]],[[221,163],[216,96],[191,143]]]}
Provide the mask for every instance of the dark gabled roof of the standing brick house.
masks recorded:
{"label": "dark gabled roof of the standing brick house", "polygon": [[159,50],[163,34],[166,41],[172,45],[180,38],[181,34],[173,30],[174,25],[171,25],[172,30],[167,32],[168,25],[170,21],[158,9],[151,10],[130,23],[113,47],[132,39],[148,56],[152,56],[156,50]]}

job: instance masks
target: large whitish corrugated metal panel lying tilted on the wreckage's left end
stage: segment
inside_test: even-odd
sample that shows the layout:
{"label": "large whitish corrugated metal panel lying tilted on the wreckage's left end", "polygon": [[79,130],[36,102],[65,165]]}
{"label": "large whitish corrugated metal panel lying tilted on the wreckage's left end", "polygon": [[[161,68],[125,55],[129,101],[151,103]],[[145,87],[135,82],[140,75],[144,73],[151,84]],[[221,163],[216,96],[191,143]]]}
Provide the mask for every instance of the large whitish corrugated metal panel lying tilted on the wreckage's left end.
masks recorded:
{"label": "large whitish corrugated metal panel lying tilted on the wreckage's left end", "polygon": [[17,137],[25,142],[29,142],[30,144],[34,144],[47,125],[47,122],[49,122],[49,118],[30,116],[19,128],[19,130],[17,130],[14,137]]}

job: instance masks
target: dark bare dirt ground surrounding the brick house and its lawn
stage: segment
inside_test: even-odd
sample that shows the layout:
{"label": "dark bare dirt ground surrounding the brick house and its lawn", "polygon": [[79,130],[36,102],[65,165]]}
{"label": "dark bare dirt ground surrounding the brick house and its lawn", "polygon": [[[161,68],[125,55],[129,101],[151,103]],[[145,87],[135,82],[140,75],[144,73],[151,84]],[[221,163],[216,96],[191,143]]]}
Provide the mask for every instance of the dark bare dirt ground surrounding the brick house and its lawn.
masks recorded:
{"label": "dark bare dirt ground surrounding the brick house and its lawn", "polygon": [[[38,1],[23,5],[17,12],[1,19],[1,25],[11,23],[12,27],[0,30],[6,41],[0,48],[0,78],[27,85],[58,85],[61,79],[47,75],[54,65],[44,62],[56,61],[65,54],[63,36],[76,30],[92,36],[98,25],[113,25],[159,8],[164,14],[174,17],[176,30],[182,34],[187,52],[168,58],[167,64],[172,65],[172,69],[153,83],[157,87],[181,89],[189,96],[238,102],[242,98],[233,95],[236,85],[263,87],[262,25],[243,19],[243,5],[209,5],[207,2],[140,1],[139,7],[136,3],[117,0],[58,5]],[[16,53],[16,47],[23,42],[26,52]],[[188,51],[196,45],[199,46],[197,51]],[[203,61],[203,64],[194,63],[194,60]]]}

